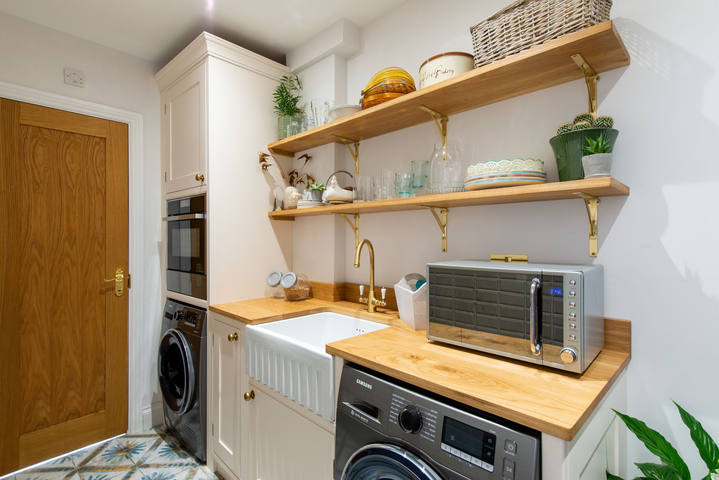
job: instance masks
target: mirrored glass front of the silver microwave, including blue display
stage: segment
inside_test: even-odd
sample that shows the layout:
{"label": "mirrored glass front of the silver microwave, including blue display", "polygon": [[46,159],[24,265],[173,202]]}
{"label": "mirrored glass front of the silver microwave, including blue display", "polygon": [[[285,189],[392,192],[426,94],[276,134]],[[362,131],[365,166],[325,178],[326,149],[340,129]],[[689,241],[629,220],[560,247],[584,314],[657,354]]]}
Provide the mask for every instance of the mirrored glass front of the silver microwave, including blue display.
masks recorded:
{"label": "mirrored glass front of the silver microwave, including blue display", "polygon": [[562,276],[435,267],[429,276],[429,335],[534,362],[547,347],[559,355]]}

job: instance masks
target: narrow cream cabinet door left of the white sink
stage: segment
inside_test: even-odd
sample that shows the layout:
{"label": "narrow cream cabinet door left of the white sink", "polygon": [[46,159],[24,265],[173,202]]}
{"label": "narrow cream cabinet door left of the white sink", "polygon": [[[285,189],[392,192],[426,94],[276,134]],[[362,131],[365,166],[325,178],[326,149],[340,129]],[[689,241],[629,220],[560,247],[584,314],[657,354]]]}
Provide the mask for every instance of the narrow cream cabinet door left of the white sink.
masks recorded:
{"label": "narrow cream cabinet door left of the white sink", "polygon": [[[237,333],[237,340],[228,340]],[[212,450],[232,473],[239,476],[240,418],[237,384],[242,330],[212,321]],[[244,402],[244,400],[242,400]]]}

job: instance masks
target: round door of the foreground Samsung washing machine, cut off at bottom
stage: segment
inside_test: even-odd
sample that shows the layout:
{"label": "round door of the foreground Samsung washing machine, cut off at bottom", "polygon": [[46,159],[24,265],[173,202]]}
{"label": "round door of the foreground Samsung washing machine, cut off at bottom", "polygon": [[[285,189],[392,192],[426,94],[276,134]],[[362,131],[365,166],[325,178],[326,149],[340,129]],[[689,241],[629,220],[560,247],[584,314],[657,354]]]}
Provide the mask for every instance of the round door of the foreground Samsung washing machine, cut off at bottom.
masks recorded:
{"label": "round door of the foreground Samsung washing machine, cut off at bottom", "polygon": [[370,443],[347,461],[342,480],[443,480],[431,466],[404,448]]}

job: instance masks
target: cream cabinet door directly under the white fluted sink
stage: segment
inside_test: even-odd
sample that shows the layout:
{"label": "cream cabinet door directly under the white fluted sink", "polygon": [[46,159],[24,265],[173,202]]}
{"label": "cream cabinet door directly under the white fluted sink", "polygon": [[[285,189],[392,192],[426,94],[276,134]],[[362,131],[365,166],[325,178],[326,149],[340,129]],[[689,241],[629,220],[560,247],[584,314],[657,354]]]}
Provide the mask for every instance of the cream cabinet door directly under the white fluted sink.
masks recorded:
{"label": "cream cabinet door directly under the white fluted sink", "polygon": [[334,435],[260,389],[249,402],[250,479],[330,480]]}

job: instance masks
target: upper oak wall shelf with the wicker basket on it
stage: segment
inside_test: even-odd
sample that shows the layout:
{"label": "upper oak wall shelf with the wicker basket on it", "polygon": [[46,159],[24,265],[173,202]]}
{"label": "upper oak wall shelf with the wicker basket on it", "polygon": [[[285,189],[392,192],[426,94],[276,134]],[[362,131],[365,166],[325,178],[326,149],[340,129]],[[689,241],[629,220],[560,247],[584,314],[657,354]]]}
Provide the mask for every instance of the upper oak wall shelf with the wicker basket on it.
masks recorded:
{"label": "upper oak wall shelf with the wicker basket on it", "polygon": [[267,148],[276,155],[293,156],[309,148],[342,142],[342,138],[358,142],[431,121],[420,106],[448,116],[579,80],[585,76],[572,60],[577,53],[597,73],[630,63],[629,53],[609,20],[279,140]]}

